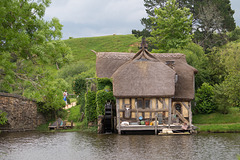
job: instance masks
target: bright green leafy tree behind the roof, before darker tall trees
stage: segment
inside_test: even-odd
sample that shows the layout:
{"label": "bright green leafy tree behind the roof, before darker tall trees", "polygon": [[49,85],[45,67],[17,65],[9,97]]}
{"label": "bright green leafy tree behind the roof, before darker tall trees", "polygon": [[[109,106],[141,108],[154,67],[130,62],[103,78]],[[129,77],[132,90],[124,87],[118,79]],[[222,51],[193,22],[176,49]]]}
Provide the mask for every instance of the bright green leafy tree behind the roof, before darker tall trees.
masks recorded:
{"label": "bright green leafy tree behind the roof, before darker tall trees", "polygon": [[153,37],[149,39],[160,52],[191,42],[192,14],[188,8],[179,9],[176,0],[170,0],[165,7],[155,9],[155,15],[151,17]]}

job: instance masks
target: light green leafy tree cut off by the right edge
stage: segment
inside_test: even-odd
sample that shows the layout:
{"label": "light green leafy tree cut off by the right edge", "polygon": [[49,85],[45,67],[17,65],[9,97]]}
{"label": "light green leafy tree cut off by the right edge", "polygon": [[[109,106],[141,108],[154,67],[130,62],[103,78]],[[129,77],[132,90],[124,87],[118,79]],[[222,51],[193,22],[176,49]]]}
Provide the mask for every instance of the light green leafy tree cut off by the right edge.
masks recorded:
{"label": "light green leafy tree cut off by the right edge", "polygon": [[215,101],[222,113],[230,107],[240,107],[240,51],[239,42],[229,43],[218,50],[220,63],[227,75],[224,81],[215,86]]}

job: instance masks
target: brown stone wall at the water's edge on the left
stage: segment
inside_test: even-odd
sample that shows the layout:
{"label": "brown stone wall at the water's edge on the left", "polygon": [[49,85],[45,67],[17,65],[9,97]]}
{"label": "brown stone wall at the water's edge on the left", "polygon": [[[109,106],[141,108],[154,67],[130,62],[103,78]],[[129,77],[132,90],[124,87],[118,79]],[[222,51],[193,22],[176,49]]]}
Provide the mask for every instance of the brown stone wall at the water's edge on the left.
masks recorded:
{"label": "brown stone wall at the water's edge on the left", "polygon": [[7,113],[8,123],[0,126],[1,131],[35,130],[46,123],[37,112],[37,103],[19,95],[0,93],[0,110]]}

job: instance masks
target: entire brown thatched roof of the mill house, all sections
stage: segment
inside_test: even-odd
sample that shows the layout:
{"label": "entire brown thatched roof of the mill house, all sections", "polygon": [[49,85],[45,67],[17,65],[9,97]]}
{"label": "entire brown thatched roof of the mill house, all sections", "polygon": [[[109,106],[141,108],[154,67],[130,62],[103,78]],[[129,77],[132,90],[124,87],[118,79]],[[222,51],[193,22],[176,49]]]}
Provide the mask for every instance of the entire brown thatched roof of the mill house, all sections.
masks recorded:
{"label": "entire brown thatched roof of the mill house, all sections", "polygon": [[113,78],[116,97],[173,97],[194,99],[197,70],[180,53],[96,53],[97,77]]}

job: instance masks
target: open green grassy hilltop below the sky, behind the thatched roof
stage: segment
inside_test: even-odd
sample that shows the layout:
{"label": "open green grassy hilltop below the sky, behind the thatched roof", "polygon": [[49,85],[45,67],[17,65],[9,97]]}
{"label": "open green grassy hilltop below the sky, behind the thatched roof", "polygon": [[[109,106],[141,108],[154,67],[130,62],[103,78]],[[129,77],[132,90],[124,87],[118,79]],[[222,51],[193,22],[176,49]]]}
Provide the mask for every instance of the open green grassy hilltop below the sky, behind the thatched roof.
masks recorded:
{"label": "open green grassy hilltop below the sky, behind the thatched roof", "polygon": [[134,35],[110,35],[89,38],[73,38],[64,40],[72,49],[74,62],[95,63],[96,55],[91,52],[137,52],[140,39]]}

